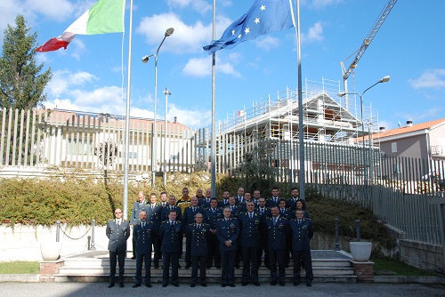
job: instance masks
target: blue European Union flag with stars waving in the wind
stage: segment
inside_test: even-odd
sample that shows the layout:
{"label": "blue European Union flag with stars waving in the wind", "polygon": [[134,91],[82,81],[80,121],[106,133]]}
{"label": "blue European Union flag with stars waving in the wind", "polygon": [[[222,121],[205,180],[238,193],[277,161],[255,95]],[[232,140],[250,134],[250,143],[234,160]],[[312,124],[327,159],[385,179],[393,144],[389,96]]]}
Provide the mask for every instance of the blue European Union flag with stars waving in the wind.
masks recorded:
{"label": "blue European Union flag with stars waving in the wind", "polygon": [[231,23],[219,40],[204,46],[209,54],[231,49],[269,32],[295,27],[292,0],[256,0],[249,11]]}

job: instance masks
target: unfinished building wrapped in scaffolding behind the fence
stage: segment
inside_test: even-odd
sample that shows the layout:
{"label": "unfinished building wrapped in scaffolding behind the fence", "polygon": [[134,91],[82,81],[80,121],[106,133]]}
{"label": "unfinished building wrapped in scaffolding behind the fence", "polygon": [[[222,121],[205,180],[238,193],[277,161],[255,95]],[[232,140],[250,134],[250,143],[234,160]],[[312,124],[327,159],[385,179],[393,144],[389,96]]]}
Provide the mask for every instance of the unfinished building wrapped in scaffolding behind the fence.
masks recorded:
{"label": "unfinished building wrapped in scaffolding behind the fence", "polygon": [[[378,126],[377,118],[370,107],[363,107],[362,119],[360,98],[340,98],[338,92],[340,82],[305,81],[302,106],[305,168],[310,180],[326,181],[326,173],[341,173],[346,178],[344,173],[348,173],[347,179],[356,183],[352,180],[363,174],[364,168],[369,167],[367,163],[375,162],[371,156],[374,154],[368,154],[368,135]],[[276,100],[269,96],[220,123],[216,134],[216,172],[237,174],[240,165],[247,162],[247,155],[266,154],[271,166],[280,171],[279,176],[297,181],[296,171],[300,167],[297,93],[278,92]],[[206,168],[210,162],[210,134],[209,128],[201,129],[196,140],[197,160]],[[258,152],[263,140],[267,140],[267,148]]]}

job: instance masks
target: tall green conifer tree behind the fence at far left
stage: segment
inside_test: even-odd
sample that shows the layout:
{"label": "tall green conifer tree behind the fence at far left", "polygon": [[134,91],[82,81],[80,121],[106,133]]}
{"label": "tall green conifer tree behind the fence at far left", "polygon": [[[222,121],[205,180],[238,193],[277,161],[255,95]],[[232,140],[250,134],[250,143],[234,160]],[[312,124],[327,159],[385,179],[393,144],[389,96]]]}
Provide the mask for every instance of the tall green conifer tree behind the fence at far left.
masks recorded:
{"label": "tall green conifer tree behind the fence at far left", "polygon": [[44,87],[52,77],[51,68],[42,72],[44,63],[36,63],[37,34],[29,33],[25,18],[18,15],[15,27],[4,30],[0,57],[0,107],[32,109],[46,100]]}

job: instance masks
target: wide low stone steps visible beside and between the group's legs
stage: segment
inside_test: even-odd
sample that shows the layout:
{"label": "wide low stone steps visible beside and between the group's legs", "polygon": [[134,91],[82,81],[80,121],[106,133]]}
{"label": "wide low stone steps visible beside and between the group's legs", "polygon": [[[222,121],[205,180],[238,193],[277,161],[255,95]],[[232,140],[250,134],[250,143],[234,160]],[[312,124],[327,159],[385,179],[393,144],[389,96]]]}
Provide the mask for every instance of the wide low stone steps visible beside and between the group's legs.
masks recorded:
{"label": "wide low stone steps visible beside and between the group's legs", "polygon": [[[131,254],[127,254],[131,257]],[[129,257],[125,259],[125,283],[134,283],[136,261]],[[109,253],[108,251],[85,252],[65,257],[64,265],[59,269],[59,274],[54,276],[55,282],[108,282],[109,281]],[[312,269],[315,282],[356,282],[352,268],[352,256],[343,251],[312,251]],[[159,262],[162,265],[162,260]],[[183,269],[185,263],[183,257],[180,260],[182,269],[179,269],[180,283],[190,283],[191,269]],[[117,269],[118,270],[118,269]],[[144,269],[142,269],[142,276]],[[240,280],[241,269],[235,269],[235,276]],[[269,282],[270,270],[263,265],[258,271],[260,282]],[[293,282],[293,262],[286,269],[288,282]],[[302,269],[302,276],[304,270]],[[207,283],[219,283],[221,269],[206,270]],[[151,267],[151,283],[162,283],[162,269]]]}

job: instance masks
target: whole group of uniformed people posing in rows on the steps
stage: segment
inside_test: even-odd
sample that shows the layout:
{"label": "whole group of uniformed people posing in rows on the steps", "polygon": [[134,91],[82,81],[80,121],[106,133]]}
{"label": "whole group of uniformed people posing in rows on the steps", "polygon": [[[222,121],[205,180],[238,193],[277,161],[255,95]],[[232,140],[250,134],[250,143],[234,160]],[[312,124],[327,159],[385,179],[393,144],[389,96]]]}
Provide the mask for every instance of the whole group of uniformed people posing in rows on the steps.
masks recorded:
{"label": "whole group of uniformed people posing in rows on the steps", "polygon": [[[136,260],[136,282],[142,285],[142,263],[145,266],[145,285],[150,284],[151,253],[154,252],[154,268],[159,268],[162,258],[163,287],[170,280],[178,285],[179,259],[182,257],[182,238],[186,238],[185,269],[191,267],[191,287],[197,285],[198,269],[200,285],[206,286],[206,269],[222,269],[221,285],[235,286],[235,268],[242,259],[241,285],[252,279],[260,285],[258,268],[262,264],[271,270],[271,285],[285,285],[285,270],[290,256],[294,261],[294,285],[300,284],[300,272],[306,272],[306,285],[312,285],[312,258],[310,240],[313,236],[312,221],[305,211],[306,204],[299,197],[298,189],[292,189],[292,197],[279,197],[279,189],[271,190],[272,197],[261,197],[259,190],[254,197],[239,188],[237,196],[223,192],[223,199],[212,197],[211,189],[204,195],[198,189],[196,196],[189,197],[189,189],[182,189],[182,197],[166,192],[150,195],[146,201],[139,192],[133,205],[130,221],[122,219],[122,211],[115,210],[115,219],[107,223],[109,237],[109,287],[115,285],[116,264],[119,266],[119,286],[124,286],[126,239],[133,229],[133,257]],[[277,268],[278,266],[278,268]]]}

